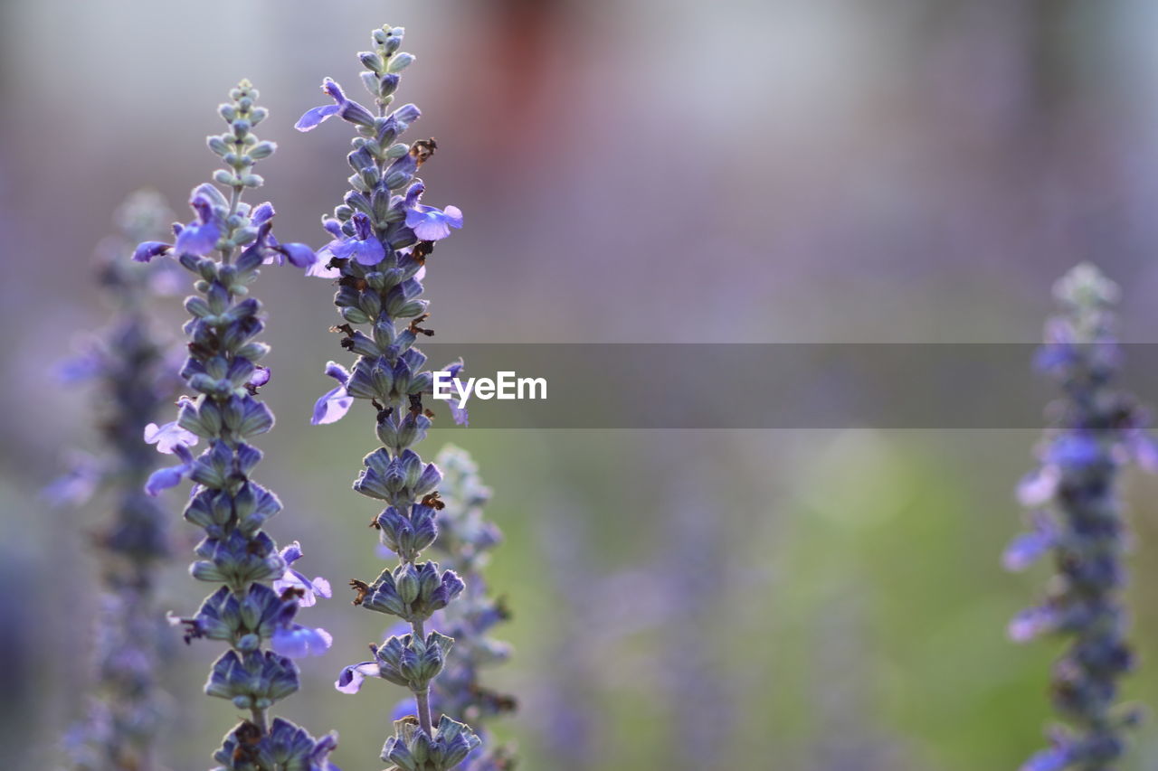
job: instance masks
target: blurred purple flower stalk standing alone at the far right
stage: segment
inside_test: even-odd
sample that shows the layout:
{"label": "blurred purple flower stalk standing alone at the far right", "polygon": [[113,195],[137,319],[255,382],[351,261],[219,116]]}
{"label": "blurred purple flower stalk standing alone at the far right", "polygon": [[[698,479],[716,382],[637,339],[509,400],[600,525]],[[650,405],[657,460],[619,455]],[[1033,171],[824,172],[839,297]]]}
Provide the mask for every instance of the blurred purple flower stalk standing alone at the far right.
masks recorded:
{"label": "blurred purple flower stalk standing alone at the far right", "polygon": [[1137,711],[1116,705],[1119,680],[1133,668],[1126,641],[1127,526],[1119,472],[1130,461],[1148,470],[1156,451],[1145,418],[1119,386],[1121,352],[1113,306],[1117,287],[1079,265],[1055,289],[1061,314],[1046,329],[1038,366],[1058,384],[1055,420],[1039,448],[1040,465],[1019,487],[1032,530],[1005,552],[1010,570],[1050,553],[1055,575],[1045,602],[1010,623],[1018,641],[1039,634],[1067,640],[1054,663],[1054,708],[1067,725],[1023,771],[1111,771],[1126,750]]}

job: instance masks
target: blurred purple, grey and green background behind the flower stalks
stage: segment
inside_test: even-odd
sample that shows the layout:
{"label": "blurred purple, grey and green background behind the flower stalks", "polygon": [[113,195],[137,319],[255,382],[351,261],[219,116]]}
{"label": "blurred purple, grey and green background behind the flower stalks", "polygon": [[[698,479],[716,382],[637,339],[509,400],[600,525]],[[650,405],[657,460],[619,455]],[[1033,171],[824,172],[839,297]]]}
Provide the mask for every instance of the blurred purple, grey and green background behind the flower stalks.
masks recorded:
{"label": "blurred purple, grey and green background behind the flower stalks", "polygon": [[[89,677],[108,507],[39,490],[95,448],[93,395],[53,383],[107,317],[94,245],[133,190],[185,216],[240,78],[279,142],[261,164],[284,241],[321,245],[350,132],[292,130],[324,75],[358,88],[384,22],[418,57],[400,93],[433,135],[428,204],[466,212],[427,298],[439,343],[1033,342],[1049,288],[1093,259],[1124,288],[1124,337],[1158,323],[1158,6],[1143,0],[7,0],[0,5],[0,742],[58,757]],[[313,428],[330,388],[325,281],[258,285],[279,417],[261,480],[271,523],[335,587],[376,572],[374,513],[349,490],[366,425]],[[179,296],[157,303],[176,336]],[[642,376],[644,376],[642,374]],[[1034,376],[1028,362],[1026,377]],[[968,389],[967,379],[961,382]],[[1144,394],[1151,402],[1158,395]],[[742,399],[736,399],[742,410]],[[491,682],[527,769],[1013,769],[1043,741],[1051,642],[1009,617],[1045,568],[1005,574],[1025,431],[472,431],[506,533],[489,570],[516,647]],[[1131,602],[1158,705],[1158,483],[1128,478]],[[196,609],[184,539],[163,603]],[[338,596],[309,611],[334,649],[283,713],[337,728],[334,759],[379,768],[374,682],[336,692],[384,624]],[[204,769],[236,719],[200,695],[213,644],[176,651],[164,763]],[[1158,719],[1123,771],[1158,766]]]}

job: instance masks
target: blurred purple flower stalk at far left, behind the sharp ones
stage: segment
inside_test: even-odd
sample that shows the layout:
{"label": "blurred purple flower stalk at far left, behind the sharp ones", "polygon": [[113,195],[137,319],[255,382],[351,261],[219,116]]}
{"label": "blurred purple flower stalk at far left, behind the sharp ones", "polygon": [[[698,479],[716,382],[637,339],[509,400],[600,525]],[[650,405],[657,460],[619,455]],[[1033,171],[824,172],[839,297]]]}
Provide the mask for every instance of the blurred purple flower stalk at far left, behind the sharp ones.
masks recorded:
{"label": "blurred purple flower stalk at far left, behind the sharp ones", "polygon": [[176,379],[167,372],[167,346],[147,313],[156,271],[132,264],[129,244],[161,232],[168,216],[163,199],[149,191],[120,207],[123,237],[104,244],[98,272],[113,320],[60,370],[71,382],[98,382],[105,451],[100,460],[78,460],[47,492],[80,511],[91,508],[86,504],[98,491],[116,500],[111,522],[93,539],[101,572],[96,678],[83,719],[66,737],[72,768],[83,771],[153,768],[167,700],[157,686],[166,634],[155,588],[159,564],[169,557],[169,513],[141,490],[156,467],[141,433],[173,398]]}

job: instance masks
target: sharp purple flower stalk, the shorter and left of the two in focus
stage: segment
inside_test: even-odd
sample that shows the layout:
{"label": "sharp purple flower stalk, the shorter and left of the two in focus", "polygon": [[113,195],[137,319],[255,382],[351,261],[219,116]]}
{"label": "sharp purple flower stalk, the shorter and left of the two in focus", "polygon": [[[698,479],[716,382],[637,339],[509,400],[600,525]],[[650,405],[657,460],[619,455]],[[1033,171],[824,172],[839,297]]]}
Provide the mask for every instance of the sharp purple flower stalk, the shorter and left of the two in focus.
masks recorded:
{"label": "sharp purple flower stalk, the shorter and left of the two in focus", "polygon": [[[145,489],[155,495],[185,477],[193,482],[184,517],[203,528],[205,538],[190,572],[221,585],[195,616],[174,619],[184,625],[186,642],[208,638],[228,644],[205,692],[249,712],[214,759],[236,771],[327,771],[334,768],[328,756],[336,734],[315,740],[284,718],[270,719],[273,704],[299,688],[292,659],[323,653],[330,636],[294,622],[299,607],[313,604],[318,594],[328,596],[329,586],[291,567],[301,556],[296,542],[279,552],[262,530],[281,504],[251,479],[262,453],[249,441],[273,426],[273,414],[258,398],[270,370],[257,362],[269,346],[252,339],[264,324],[250,284],[263,263],[288,259],[308,267],[315,259],[303,244],[278,243],[271,233],[272,206],[241,200],[245,190],[262,185],[254,164],[274,150],[252,133],[266,115],[256,98],[257,90],[242,81],[219,110],[228,130],[208,138],[210,149],[227,167],[213,177],[226,193],[199,185],[190,201],[196,219],[175,228],[176,242],[146,241],[134,252],[142,262],[173,255],[196,277],[196,294],[185,300],[189,357],[181,369],[192,395],[178,399],[175,421],[145,428],[146,441],[181,462],[153,472]],[[207,447],[193,457],[190,448],[201,439]]]}

